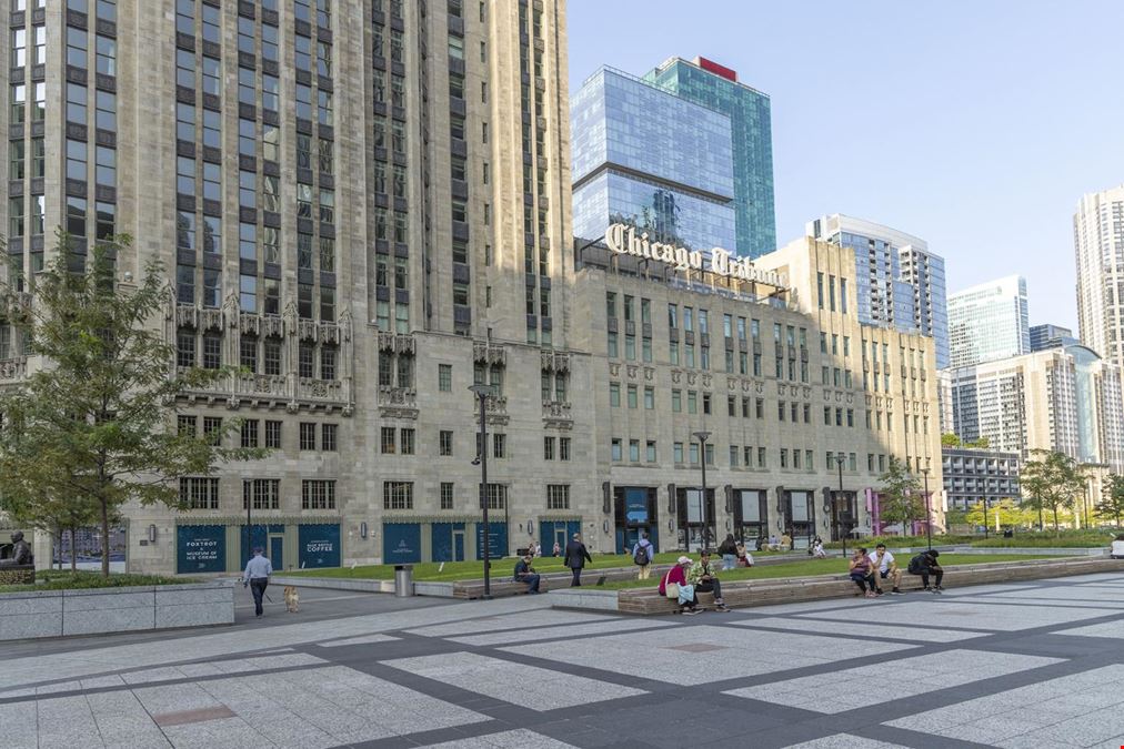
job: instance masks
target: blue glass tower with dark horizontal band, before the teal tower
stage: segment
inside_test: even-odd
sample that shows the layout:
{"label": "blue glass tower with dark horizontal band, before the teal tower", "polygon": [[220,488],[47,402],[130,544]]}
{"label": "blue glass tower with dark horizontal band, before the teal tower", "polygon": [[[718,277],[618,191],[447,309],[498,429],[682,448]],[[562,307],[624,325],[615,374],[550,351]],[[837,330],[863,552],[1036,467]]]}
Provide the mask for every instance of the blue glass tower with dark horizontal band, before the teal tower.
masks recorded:
{"label": "blue glass tower with dark horizontal band, before the teal tower", "polygon": [[574,235],[611,223],[652,241],[736,246],[731,119],[602,67],[571,100]]}

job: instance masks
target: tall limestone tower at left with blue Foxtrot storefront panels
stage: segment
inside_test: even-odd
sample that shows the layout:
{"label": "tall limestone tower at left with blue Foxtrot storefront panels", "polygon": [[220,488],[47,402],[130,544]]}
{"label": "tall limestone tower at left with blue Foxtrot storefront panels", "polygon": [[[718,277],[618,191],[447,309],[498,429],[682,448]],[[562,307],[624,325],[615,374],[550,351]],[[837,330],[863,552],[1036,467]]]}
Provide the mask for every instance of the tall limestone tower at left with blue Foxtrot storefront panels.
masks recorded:
{"label": "tall limestone tower at left with blue Foxtrot storefront panels", "polygon": [[[178,363],[251,372],[185,393],[179,427],[244,419],[236,439],[273,450],[184,478],[187,512],[129,508],[157,539],[129,533],[130,568],[239,568],[246,505],[275,567],[472,555],[473,382],[496,389],[492,519],[508,495],[542,514],[547,491],[552,522],[580,517],[584,442],[533,477],[505,468],[529,458],[523,429],[536,457],[544,429],[592,429],[563,405],[581,363],[561,0],[0,6],[9,278],[56,226],[75,264],[130,235],[120,277],[164,264]],[[28,354],[0,325],[3,381]]]}

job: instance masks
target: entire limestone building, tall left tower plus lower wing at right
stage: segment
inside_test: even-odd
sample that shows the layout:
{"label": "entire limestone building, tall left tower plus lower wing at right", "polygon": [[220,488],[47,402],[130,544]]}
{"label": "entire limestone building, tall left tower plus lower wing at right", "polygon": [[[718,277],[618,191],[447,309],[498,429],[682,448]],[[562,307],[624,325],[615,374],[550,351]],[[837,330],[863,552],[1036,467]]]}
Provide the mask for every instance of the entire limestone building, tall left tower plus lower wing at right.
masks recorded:
{"label": "entire limestone building, tall left tower plus lower wing at right", "polygon": [[[119,281],[164,264],[175,365],[243,368],[169,428],[271,450],[126,508],[130,570],[611,551],[645,523],[697,546],[704,462],[719,536],[877,530],[890,455],[940,486],[932,340],[858,322],[847,250],[800,240],[756,262],[783,283],[731,287],[573,243],[562,0],[2,6],[4,280],[48,228],[75,264],[130,235]],[[0,322],[0,384],[27,354]]]}

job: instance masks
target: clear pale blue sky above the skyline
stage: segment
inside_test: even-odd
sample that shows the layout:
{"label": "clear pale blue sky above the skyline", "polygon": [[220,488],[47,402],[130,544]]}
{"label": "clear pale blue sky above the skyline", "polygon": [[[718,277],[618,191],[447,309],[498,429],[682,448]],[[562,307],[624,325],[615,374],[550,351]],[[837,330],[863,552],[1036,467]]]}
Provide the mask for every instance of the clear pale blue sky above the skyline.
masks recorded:
{"label": "clear pale blue sky above the skyline", "polygon": [[1124,2],[568,8],[572,91],[703,55],[770,95],[781,244],[824,213],[878,221],[943,255],[950,292],[1021,273],[1031,323],[1076,330],[1073,209],[1124,182]]}

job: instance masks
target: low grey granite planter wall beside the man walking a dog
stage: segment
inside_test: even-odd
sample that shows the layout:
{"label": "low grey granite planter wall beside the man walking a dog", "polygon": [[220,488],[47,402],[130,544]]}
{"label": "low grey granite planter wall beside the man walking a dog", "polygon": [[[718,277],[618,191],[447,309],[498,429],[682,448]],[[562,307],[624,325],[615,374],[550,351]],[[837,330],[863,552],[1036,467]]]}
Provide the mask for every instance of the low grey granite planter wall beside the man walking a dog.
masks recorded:
{"label": "low grey granite planter wall beside the man walking a dog", "polygon": [[234,583],[0,593],[0,640],[234,623]]}

